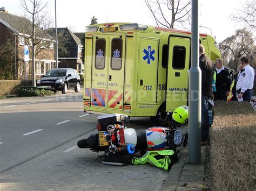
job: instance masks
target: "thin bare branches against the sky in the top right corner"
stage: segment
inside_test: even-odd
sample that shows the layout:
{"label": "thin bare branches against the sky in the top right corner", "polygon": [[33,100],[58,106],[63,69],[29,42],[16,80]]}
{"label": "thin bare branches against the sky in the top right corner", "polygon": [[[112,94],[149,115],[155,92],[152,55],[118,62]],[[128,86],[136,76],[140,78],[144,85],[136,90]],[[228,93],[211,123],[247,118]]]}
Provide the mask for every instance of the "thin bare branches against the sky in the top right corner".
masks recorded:
{"label": "thin bare branches against the sky in the top right corner", "polygon": [[244,23],[247,27],[256,28],[256,1],[246,1],[240,10],[232,15],[234,20]]}

